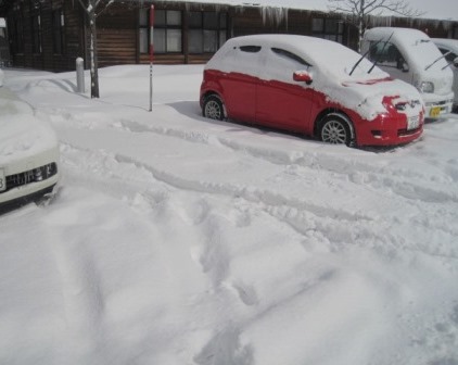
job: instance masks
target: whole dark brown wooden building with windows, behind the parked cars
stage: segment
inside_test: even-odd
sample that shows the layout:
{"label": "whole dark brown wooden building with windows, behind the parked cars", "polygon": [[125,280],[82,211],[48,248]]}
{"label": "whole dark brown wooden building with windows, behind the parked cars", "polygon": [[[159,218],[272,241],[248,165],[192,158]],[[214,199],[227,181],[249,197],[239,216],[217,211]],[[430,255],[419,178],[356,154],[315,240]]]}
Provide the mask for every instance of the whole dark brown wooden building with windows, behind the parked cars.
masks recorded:
{"label": "whole dark brown wooden building with windows, behind the parked cars", "polygon": [[[71,71],[89,62],[88,17],[78,0],[2,0],[12,65]],[[149,11],[155,8],[154,62],[202,63],[234,36],[288,33],[322,37],[353,49],[357,29],[345,16],[319,11],[187,1],[115,1],[97,18],[99,66],[149,62]],[[458,38],[458,22],[374,18],[374,25],[407,26],[432,37]]]}

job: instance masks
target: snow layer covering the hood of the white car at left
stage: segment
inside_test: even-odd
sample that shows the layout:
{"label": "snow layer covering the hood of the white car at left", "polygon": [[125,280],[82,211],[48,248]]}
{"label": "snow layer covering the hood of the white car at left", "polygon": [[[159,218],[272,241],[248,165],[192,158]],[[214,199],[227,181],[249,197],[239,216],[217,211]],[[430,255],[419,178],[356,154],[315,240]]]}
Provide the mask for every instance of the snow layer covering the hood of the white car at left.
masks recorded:
{"label": "snow layer covering the hood of the white car at left", "polygon": [[53,149],[58,139],[51,126],[8,89],[0,89],[0,165]]}

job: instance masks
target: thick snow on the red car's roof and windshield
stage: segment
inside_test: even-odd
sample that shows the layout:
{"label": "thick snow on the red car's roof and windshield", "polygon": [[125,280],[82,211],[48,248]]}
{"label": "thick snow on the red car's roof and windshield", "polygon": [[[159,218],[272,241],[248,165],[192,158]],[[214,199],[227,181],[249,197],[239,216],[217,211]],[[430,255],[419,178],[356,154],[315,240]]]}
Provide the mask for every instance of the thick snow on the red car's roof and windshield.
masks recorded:
{"label": "thick snow on the red car's roof and windshield", "polygon": [[354,73],[349,75],[360,55],[341,43],[316,37],[283,34],[243,36],[229,39],[225,48],[234,46],[285,48],[288,51],[302,56],[311,66],[320,67],[322,72],[332,76],[335,81],[341,83],[389,76],[378,67],[368,74],[367,72],[372,66],[372,63],[367,60],[362,60]]}

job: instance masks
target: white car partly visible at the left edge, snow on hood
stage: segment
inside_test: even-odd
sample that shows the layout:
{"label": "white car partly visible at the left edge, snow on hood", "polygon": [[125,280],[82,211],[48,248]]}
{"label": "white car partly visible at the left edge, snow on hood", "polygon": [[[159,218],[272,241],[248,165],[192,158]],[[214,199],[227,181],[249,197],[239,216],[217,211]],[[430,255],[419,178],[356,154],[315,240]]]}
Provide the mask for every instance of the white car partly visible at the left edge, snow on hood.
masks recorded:
{"label": "white car partly visible at the left edge, snow on hood", "polygon": [[60,178],[54,130],[0,87],[0,214],[52,193]]}

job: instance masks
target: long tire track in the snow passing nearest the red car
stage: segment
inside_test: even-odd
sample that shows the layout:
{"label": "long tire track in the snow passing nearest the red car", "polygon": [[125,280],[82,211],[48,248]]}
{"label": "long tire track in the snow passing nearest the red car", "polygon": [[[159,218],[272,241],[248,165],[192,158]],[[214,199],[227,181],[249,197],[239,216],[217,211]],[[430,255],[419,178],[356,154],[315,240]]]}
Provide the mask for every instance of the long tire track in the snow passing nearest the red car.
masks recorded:
{"label": "long tire track in the snow passing nearest the red car", "polygon": [[[455,184],[458,181],[455,166],[449,171],[450,179],[447,182],[447,190],[441,190],[440,185],[433,184],[433,187],[425,187],[416,184],[416,180],[430,180],[432,177],[419,172],[406,172],[405,169],[392,168],[390,166],[379,166],[373,162],[364,162],[367,158],[376,158],[377,153],[357,151],[354,158],[340,156],[336,153],[327,154],[323,151],[283,151],[273,150],[272,147],[263,147],[249,144],[233,138],[220,137],[216,135],[208,135],[195,130],[179,130],[164,126],[145,126],[141,123],[122,119],[120,125],[124,129],[133,133],[154,133],[157,135],[176,137],[189,142],[211,144],[215,147],[226,147],[233,152],[243,152],[253,158],[276,164],[276,165],[295,165],[300,167],[307,167],[311,171],[327,171],[330,174],[336,174],[334,177],[348,180],[356,185],[364,185],[371,187],[374,190],[390,188],[395,194],[409,200],[421,200],[431,203],[456,202],[458,203],[458,191],[456,191]],[[307,143],[307,141],[304,141]],[[331,148],[331,147],[330,147]],[[403,148],[398,148],[403,149]],[[391,150],[395,152],[396,149]],[[377,150],[374,150],[377,151]],[[383,151],[381,149],[380,151]],[[349,153],[355,153],[354,150],[348,150]],[[385,153],[385,152],[380,152]],[[366,155],[365,155],[366,154]],[[357,159],[361,160],[357,160]],[[349,165],[349,168],[348,168]],[[364,174],[354,173],[353,171],[365,172]],[[434,178],[434,177],[433,177]]]}

